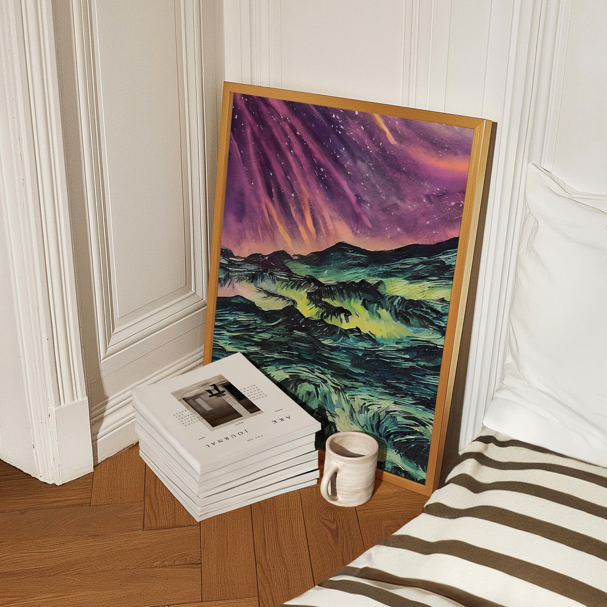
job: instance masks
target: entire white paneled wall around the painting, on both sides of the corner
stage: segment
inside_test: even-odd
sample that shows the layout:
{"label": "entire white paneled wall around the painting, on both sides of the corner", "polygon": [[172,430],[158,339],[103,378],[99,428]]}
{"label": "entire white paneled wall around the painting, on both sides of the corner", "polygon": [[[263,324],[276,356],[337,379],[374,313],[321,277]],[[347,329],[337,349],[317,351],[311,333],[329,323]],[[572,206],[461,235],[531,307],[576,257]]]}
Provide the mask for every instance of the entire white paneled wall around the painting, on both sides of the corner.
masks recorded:
{"label": "entire white paneled wall around the painting, on both sides of the corner", "polygon": [[[499,379],[527,160],[576,188],[605,191],[607,3],[155,0],[152,8],[143,0],[0,7],[0,117],[12,125],[0,149],[2,218],[22,239],[0,250],[2,262],[10,258],[0,273],[0,456],[15,451],[18,465],[63,482],[86,461],[52,470],[83,450],[69,435],[86,438],[87,403],[102,459],[135,440],[132,386],[200,360],[224,67],[226,80],[497,123],[461,397],[465,443]],[[19,439],[7,438],[13,428]]]}

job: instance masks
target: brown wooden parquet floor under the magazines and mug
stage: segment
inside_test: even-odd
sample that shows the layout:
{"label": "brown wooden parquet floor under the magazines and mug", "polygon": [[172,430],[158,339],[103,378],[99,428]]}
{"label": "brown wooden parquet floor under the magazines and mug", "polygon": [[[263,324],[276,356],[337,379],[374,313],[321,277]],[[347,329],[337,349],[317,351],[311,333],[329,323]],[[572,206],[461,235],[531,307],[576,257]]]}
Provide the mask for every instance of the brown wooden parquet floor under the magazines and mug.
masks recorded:
{"label": "brown wooden parquet floor under the magazines and mug", "polygon": [[378,482],[342,508],[313,486],[196,523],[137,446],[62,486],[0,462],[0,606],[277,607],[425,501]]}

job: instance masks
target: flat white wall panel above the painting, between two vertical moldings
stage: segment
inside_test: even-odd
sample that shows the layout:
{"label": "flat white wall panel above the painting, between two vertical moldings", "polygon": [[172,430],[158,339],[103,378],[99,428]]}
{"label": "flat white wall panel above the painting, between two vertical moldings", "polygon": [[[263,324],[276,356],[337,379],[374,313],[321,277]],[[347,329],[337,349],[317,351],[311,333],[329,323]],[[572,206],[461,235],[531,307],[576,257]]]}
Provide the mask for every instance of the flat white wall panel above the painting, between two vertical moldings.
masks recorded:
{"label": "flat white wall panel above the painting, between two vertical moldings", "polygon": [[288,0],[280,7],[282,87],[401,102],[403,2]]}

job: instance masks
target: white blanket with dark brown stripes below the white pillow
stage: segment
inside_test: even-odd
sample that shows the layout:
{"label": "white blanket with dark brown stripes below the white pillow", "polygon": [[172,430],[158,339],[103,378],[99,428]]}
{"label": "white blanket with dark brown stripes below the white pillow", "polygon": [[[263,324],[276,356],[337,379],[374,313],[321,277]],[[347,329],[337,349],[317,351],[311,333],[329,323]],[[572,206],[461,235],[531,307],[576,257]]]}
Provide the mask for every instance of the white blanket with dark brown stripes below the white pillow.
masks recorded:
{"label": "white blanket with dark brown stripes below the white pillow", "polygon": [[492,430],[419,517],[300,607],[607,606],[607,469]]}

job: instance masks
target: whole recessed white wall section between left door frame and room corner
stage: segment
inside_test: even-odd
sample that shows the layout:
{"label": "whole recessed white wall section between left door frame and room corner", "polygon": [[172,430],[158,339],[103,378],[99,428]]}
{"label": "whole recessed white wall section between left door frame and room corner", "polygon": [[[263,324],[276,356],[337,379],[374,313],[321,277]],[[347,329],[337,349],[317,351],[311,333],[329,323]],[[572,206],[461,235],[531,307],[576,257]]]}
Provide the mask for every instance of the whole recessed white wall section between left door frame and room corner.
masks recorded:
{"label": "whole recessed white wall section between left door frame and room corner", "polygon": [[[174,0],[161,4],[162,12],[155,15],[138,15],[144,12],[145,4],[137,2],[124,9],[124,30],[117,36],[108,5],[97,0],[72,0],[69,15],[64,16],[64,27],[73,38],[73,58],[66,51],[68,71],[71,69],[75,78],[72,114],[80,127],[78,142],[72,146],[79,148],[77,159],[72,152],[72,164],[79,161],[82,173],[81,183],[74,186],[75,200],[82,197],[86,205],[86,213],[80,212],[78,245],[89,257],[78,266],[84,294],[81,316],[87,327],[87,343],[96,341],[98,348],[85,359],[95,462],[137,440],[132,388],[202,362],[208,218],[212,211],[209,202],[214,197],[218,85],[223,80],[222,2]],[[140,28],[136,42],[129,39],[129,27]],[[152,31],[163,32],[160,50],[153,48]],[[112,55],[115,44],[124,47],[124,65],[120,56]],[[138,44],[144,45],[149,58],[140,53]],[[120,66],[115,66],[115,61]],[[133,90],[128,82],[121,81],[120,70],[126,70],[126,74],[134,70],[134,76],[143,70],[147,76],[141,87]],[[123,93],[127,97],[124,101]],[[70,90],[66,89],[65,94],[69,98]],[[153,128],[164,129],[164,138],[151,140],[151,156],[141,158],[151,158],[157,163],[154,166],[163,168],[166,155],[167,163],[171,163],[162,183],[163,196],[155,204],[168,213],[172,224],[165,232],[164,225],[158,227],[161,219],[150,219],[150,229],[155,230],[157,239],[163,239],[166,233],[172,255],[167,260],[158,257],[158,275],[162,278],[158,282],[155,266],[146,266],[146,260],[141,260],[147,273],[142,275],[138,266],[129,268],[129,260],[117,253],[120,246],[124,251],[129,239],[147,248],[151,242],[160,242],[149,240],[146,232],[138,232],[135,223],[129,223],[148,201],[139,193],[147,180],[134,174],[132,181],[128,177],[125,181],[121,174],[123,163],[129,162],[125,151],[136,156],[139,153],[131,144],[132,133],[146,138],[148,129],[145,123],[137,123],[138,130],[123,136],[117,125],[121,124],[123,109],[139,120],[140,103],[151,104],[155,113],[146,116],[158,123],[152,123]],[[72,116],[64,120],[72,120]],[[134,158],[133,166],[147,170],[147,164],[141,165],[141,159]],[[122,189],[117,188],[119,179],[123,179]],[[148,195],[153,198],[155,192]],[[121,220],[115,219],[118,213]],[[130,276],[143,290],[131,288],[125,280]],[[149,297],[147,283],[151,285]]]}

